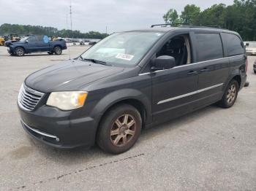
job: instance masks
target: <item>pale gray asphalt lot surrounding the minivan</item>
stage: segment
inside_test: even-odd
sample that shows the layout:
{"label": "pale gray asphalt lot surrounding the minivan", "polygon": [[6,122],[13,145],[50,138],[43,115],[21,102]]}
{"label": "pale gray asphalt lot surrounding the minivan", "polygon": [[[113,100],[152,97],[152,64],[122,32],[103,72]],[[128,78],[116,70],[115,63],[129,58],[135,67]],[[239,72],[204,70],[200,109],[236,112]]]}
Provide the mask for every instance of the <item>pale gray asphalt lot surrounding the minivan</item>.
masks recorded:
{"label": "pale gray asphalt lot surrounding the minivan", "polygon": [[[75,58],[86,47],[70,47]],[[25,77],[69,58],[11,57],[0,47],[0,190],[256,190],[256,75],[230,109],[208,106],[143,130],[135,147],[108,155],[64,150],[21,128],[16,99]]]}

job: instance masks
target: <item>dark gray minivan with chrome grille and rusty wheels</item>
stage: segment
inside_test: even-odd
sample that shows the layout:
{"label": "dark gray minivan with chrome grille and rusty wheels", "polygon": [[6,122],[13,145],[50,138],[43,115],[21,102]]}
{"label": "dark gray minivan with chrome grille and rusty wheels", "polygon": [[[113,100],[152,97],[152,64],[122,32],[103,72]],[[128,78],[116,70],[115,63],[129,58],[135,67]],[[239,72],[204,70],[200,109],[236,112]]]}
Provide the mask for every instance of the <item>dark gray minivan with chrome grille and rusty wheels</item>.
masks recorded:
{"label": "dark gray minivan with chrome grille and rusty wheels", "polygon": [[20,88],[21,124],[54,147],[118,154],[142,128],[217,103],[228,108],[246,82],[241,36],[207,27],[115,33],[78,58],[29,75]]}

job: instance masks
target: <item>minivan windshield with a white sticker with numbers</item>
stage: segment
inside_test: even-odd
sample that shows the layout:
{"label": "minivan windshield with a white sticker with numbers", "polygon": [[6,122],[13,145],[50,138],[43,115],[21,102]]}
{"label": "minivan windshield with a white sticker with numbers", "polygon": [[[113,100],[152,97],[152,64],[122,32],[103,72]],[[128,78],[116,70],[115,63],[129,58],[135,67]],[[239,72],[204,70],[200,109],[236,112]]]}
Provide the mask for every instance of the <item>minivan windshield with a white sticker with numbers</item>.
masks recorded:
{"label": "minivan windshield with a white sticker with numbers", "polygon": [[114,66],[135,66],[162,35],[154,31],[112,34],[84,52],[80,58]]}

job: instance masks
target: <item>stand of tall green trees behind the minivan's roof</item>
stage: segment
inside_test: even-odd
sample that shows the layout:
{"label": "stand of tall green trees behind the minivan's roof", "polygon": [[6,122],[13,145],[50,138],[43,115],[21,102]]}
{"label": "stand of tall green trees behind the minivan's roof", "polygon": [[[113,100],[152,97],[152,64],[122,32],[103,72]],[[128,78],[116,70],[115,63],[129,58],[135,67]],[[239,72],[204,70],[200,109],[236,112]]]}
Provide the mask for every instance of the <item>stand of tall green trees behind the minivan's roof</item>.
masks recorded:
{"label": "stand of tall green trees behind the minivan's roof", "polygon": [[195,26],[220,26],[237,31],[245,41],[256,41],[256,0],[234,0],[229,6],[214,4],[202,12],[194,4],[187,5],[180,16],[175,9],[170,9],[164,20],[170,23],[181,20]]}

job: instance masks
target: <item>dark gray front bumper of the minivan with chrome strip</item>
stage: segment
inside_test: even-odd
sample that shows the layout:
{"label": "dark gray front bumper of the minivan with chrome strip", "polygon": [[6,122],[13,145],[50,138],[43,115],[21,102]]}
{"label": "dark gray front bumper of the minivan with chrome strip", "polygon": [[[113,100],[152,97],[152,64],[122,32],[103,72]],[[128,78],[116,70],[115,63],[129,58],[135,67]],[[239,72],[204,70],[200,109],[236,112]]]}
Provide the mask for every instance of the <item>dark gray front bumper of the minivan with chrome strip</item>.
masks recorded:
{"label": "dark gray front bumper of the minivan with chrome strip", "polygon": [[91,117],[72,117],[72,112],[40,106],[35,111],[25,111],[18,106],[24,130],[39,141],[53,147],[73,148],[94,145],[96,123]]}

